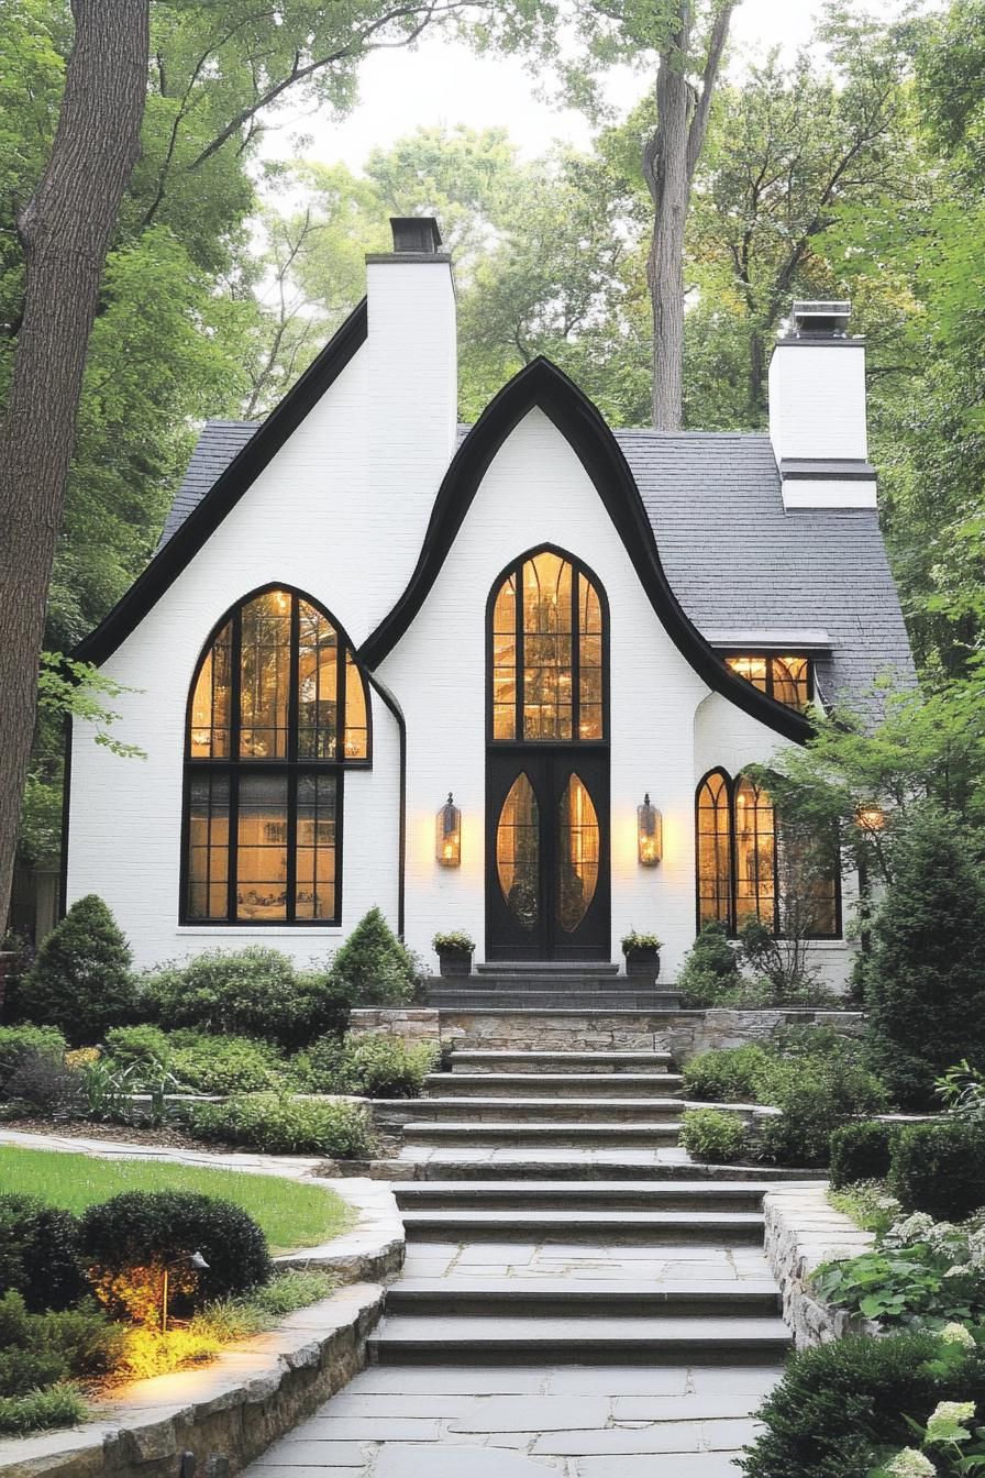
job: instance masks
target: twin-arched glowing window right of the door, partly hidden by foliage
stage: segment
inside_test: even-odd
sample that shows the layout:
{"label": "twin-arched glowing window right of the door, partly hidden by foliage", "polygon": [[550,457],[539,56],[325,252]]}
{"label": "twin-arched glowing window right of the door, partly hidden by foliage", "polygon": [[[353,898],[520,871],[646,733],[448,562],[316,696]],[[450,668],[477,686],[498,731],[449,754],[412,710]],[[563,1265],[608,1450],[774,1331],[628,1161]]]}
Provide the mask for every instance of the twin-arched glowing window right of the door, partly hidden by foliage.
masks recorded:
{"label": "twin-arched glowing window right of the door, partly hidden by foliage", "polygon": [[772,801],[749,776],[712,770],[697,788],[697,924],[737,934],[752,919],[772,934],[831,939],[840,931],[836,872],[778,828]]}

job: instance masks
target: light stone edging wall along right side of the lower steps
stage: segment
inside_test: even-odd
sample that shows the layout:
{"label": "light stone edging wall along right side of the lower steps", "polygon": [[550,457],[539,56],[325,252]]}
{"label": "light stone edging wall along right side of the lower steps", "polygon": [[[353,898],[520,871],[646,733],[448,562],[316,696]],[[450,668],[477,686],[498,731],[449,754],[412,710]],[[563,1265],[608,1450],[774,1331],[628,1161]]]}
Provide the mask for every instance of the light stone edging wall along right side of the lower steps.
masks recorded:
{"label": "light stone edging wall along right side of the lower steps", "polygon": [[797,1349],[826,1345],[843,1335],[877,1335],[867,1318],[831,1308],[814,1296],[811,1274],[823,1262],[858,1258],[876,1243],[827,1199],[827,1182],[778,1185],[763,1197],[766,1258],[783,1293],[783,1315]]}

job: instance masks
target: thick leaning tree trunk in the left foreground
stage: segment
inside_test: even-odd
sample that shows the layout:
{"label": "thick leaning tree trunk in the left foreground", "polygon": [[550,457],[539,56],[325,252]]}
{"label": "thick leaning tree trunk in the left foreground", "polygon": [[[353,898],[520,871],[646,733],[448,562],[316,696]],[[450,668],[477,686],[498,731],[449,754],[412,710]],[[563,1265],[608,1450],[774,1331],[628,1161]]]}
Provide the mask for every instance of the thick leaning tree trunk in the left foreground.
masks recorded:
{"label": "thick leaning tree trunk in the left foreground", "polygon": [[52,157],[18,220],[27,290],[0,426],[0,924],[86,347],[120,198],[140,152],[146,98],[149,0],[72,0],[72,16]]}

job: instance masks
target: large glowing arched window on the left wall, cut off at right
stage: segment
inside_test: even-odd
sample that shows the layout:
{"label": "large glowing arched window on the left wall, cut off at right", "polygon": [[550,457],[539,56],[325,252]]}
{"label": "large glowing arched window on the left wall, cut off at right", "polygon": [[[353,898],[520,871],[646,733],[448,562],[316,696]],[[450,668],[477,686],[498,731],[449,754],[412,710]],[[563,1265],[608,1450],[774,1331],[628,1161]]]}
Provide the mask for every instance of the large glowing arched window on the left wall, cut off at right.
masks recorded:
{"label": "large glowing arched window on the left wall, cut off at right", "polygon": [[272,588],[223,616],[188,711],[182,921],[337,922],[343,774],[369,742],[362,672],[325,610]]}

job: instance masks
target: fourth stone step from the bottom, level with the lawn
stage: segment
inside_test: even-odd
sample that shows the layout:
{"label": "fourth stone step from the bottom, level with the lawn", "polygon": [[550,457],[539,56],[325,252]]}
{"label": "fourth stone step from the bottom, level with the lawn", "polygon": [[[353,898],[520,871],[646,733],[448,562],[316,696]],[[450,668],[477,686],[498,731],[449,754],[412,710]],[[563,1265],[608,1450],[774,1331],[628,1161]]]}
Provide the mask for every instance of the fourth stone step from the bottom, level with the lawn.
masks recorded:
{"label": "fourth stone step from the bottom, level with the lawn", "polygon": [[406,1181],[393,1187],[403,1210],[744,1210],[762,1212],[756,1181]]}

